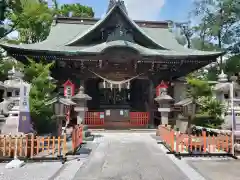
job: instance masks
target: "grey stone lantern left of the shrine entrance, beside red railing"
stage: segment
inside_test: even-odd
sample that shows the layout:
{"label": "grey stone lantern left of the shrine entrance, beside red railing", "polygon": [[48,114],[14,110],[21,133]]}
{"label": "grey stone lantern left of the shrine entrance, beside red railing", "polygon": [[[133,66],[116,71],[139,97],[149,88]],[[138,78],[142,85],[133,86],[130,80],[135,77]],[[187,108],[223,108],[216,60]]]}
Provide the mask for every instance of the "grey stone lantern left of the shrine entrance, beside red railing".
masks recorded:
{"label": "grey stone lantern left of the shrine entrance, beside red railing", "polygon": [[72,100],[76,103],[74,110],[77,114],[77,124],[82,124],[85,118],[85,112],[88,111],[87,101],[92,100],[90,96],[84,93],[84,87],[79,88],[79,92],[72,97]]}

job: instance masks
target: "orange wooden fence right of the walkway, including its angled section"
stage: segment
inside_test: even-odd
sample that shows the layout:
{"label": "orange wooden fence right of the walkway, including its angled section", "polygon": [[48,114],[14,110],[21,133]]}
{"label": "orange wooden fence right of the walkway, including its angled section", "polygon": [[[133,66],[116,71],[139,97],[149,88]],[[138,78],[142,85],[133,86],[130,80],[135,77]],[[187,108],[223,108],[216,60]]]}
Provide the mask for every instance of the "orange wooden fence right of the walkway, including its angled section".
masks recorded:
{"label": "orange wooden fence right of the walkway, including its angled section", "polygon": [[207,135],[203,131],[199,135],[188,136],[185,133],[174,131],[170,127],[160,125],[156,132],[169,150],[175,153],[230,153],[232,148],[231,135]]}

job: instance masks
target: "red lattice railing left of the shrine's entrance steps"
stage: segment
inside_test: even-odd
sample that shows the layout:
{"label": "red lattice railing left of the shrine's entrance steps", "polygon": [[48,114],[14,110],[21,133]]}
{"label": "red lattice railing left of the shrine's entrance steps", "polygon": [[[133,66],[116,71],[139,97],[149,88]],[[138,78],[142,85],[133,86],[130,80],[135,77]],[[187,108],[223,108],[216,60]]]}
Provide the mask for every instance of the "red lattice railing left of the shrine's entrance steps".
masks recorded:
{"label": "red lattice railing left of the shrine's entrance steps", "polygon": [[104,124],[104,112],[85,112],[85,125],[101,126]]}

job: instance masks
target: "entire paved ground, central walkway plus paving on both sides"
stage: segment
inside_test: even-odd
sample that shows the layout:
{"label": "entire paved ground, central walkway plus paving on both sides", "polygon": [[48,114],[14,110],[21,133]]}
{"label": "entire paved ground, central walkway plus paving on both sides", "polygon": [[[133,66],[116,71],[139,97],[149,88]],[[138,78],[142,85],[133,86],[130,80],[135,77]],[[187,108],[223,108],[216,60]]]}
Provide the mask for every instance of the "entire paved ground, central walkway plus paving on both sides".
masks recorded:
{"label": "entire paved ground, central walkway plus paving on both sides", "polygon": [[0,180],[240,180],[240,161],[178,160],[157,144],[154,133],[98,132],[68,162],[27,163],[20,169],[0,164]]}

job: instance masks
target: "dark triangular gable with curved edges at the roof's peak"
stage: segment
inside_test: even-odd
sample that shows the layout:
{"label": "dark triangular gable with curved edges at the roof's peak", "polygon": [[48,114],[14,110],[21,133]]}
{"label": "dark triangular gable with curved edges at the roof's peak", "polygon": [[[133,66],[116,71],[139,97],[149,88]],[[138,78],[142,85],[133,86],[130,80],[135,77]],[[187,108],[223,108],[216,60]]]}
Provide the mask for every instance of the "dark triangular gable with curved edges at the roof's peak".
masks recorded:
{"label": "dark triangular gable with curved edges at the roof's peak", "polygon": [[[167,49],[149,37],[132,21],[122,4],[116,3],[95,25],[66,43],[66,46],[99,44],[109,40],[125,40],[152,49]],[[111,38],[109,38],[111,36]]]}

